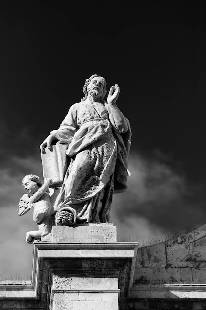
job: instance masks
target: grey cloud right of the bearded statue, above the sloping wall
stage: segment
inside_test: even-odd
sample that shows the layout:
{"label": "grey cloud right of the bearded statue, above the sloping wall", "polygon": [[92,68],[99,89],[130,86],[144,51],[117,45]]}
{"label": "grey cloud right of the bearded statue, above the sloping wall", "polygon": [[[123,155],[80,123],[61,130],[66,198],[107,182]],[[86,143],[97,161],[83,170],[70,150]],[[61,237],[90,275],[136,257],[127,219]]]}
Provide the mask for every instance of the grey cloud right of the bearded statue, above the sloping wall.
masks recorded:
{"label": "grey cloud right of the bearded statue, above the sloping wall", "polygon": [[112,206],[122,239],[125,231],[142,242],[154,234],[157,237],[204,224],[204,197],[198,196],[197,186],[189,184],[184,175],[157,157],[135,153],[129,157],[129,169],[128,190],[114,195]]}

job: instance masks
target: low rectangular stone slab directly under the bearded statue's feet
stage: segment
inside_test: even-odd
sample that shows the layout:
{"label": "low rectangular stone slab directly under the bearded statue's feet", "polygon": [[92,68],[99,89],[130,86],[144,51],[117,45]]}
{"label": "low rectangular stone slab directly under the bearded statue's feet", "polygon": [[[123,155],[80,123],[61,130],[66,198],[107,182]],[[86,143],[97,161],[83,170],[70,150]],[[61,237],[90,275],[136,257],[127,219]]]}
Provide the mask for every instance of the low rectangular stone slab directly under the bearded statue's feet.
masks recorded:
{"label": "low rectangular stone slab directly under the bearded statue's feet", "polygon": [[116,242],[117,229],[113,224],[84,224],[78,226],[53,226],[52,242]]}

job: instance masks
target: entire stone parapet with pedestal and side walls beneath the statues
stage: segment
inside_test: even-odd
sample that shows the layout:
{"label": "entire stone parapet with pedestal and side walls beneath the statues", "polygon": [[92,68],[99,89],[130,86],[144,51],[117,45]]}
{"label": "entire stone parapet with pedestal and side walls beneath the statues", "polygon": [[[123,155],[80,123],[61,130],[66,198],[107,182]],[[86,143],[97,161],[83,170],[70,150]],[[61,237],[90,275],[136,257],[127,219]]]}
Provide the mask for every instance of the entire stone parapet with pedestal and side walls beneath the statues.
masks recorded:
{"label": "entire stone parapet with pedestal and side walls beneath the statues", "polygon": [[0,309],[206,310],[206,225],[137,254],[114,226],[67,229],[34,246],[31,284],[0,284]]}

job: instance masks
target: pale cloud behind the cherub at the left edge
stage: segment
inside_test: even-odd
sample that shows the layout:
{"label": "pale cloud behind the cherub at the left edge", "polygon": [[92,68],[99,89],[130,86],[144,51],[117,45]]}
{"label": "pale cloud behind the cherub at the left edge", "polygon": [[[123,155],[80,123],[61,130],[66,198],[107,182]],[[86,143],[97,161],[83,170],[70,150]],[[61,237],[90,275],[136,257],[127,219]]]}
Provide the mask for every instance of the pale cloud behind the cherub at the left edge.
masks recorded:
{"label": "pale cloud behind the cherub at the left edge", "polygon": [[[0,275],[3,278],[23,277],[31,274],[33,246],[25,241],[26,232],[37,229],[33,222],[33,210],[25,216],[17,216],[18,203],[24,194],[21,184],[25,174],[41,177],[40,158],[10,157],[0,168]],[[14,258],[15,253],[15,260]]]}

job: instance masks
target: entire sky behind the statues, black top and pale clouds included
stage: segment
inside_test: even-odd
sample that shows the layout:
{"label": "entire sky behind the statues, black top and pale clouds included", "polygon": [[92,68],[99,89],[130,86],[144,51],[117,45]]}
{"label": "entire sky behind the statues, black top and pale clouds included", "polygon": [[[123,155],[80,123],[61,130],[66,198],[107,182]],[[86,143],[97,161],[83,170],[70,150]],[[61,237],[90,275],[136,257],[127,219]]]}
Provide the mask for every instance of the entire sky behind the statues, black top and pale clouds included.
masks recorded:
{"label": "entire sky behind the statues, black top and pale clouds included", "polygon": [[46,2],[0,3],[0,279],[31,273],[21,180],[42,179],[39,145],[94,73],[119,84],[132,128],[129,188],[112,206],[119,240],[206,223],[205,1]]}

